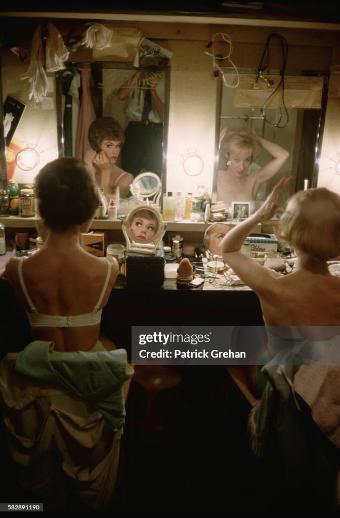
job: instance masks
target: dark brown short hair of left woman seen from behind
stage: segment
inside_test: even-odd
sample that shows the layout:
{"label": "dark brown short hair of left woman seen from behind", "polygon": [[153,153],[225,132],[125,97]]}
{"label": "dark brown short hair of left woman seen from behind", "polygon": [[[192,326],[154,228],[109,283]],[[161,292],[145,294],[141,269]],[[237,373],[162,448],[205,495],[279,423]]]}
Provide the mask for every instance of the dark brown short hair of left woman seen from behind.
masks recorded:
{"label": "dark brown short hair of left woman seen from behind", "polygon": [[100,205],[100,193],[89,166],[74,157],[46,164],[35,178],[38,212],[55,232],[90,220]]}

